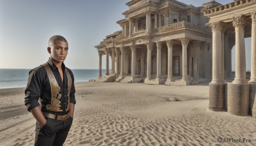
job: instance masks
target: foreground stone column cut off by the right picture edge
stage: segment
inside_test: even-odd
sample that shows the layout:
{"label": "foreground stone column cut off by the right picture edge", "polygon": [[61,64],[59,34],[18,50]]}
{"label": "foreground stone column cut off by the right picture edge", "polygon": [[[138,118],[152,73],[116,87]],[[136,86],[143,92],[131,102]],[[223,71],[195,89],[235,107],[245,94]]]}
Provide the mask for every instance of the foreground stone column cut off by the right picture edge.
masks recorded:
{"label": "foreground stone column cut off by the right picture edge", "polygon": [[[256,94],[256,12],[251,13],[252,35],[251,35],[251,77],[250,77],[250,111],[252,116],[256,117],[255,94]],[[253,108],[254,105],[254,108]]]}

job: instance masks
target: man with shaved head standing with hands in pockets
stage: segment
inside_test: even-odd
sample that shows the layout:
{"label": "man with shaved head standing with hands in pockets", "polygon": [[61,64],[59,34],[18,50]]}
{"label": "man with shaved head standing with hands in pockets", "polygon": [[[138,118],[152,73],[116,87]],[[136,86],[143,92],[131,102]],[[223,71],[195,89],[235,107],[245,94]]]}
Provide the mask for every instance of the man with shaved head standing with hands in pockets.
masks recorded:
{"label": "man with shaved head standing with hands in pockets", "polygon": [[67,40],[59,35],[51,37],[47,51],[50,54],[47,63],[29,72],[25,105],[37,120],[35,146],[62,146],[76,104],[74,76],[64,65]]}

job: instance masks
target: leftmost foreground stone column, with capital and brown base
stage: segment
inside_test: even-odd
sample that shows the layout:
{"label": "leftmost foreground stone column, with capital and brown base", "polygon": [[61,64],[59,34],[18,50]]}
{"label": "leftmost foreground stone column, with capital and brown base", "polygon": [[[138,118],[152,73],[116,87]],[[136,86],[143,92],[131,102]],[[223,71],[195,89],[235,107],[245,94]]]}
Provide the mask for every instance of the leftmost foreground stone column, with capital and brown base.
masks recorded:
{"label": "leftmost foreground stone column, with capital and brown base", "polygon": [[209,109],[225,111],[225,83],[221,80],[221,28],[220,21],[211,23],[212,27],[212,82],[209,83]]}

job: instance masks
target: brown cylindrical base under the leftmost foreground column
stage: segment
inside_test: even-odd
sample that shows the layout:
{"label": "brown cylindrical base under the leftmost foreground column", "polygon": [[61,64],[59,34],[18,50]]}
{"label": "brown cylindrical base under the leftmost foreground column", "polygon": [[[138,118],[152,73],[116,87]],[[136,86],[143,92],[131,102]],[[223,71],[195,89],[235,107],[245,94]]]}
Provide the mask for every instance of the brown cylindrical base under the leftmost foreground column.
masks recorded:
{"label": "brown cylindrical base under the leftmost foreground column", "polygon": [[209,109],[215,112],[226,111],[225,83],[209,83]]}

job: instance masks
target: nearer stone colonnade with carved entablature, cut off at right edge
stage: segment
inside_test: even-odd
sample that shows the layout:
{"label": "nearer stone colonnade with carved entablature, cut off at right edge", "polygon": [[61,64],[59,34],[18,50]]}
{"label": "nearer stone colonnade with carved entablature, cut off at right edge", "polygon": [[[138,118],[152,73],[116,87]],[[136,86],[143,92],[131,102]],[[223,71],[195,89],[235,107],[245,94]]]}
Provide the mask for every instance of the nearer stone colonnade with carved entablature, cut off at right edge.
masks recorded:
{"label": "nearer stone colonnade with carved entablature, cut off at right edge", "polygon": [[[235,0],[204,10],[212,27],[212,82],[209,84],[209,109],[247,116],[253,111],[256,93],[256,0]],[[246,78],[244,38],[251,37],[251,77]],[[236,72],[230,76],[230,49],[236,45]],[[255,108],[255,107],[254,107]],[[256,108],[255,108],[256,109]],[[256,110],[255,110],[256,112]]]}

